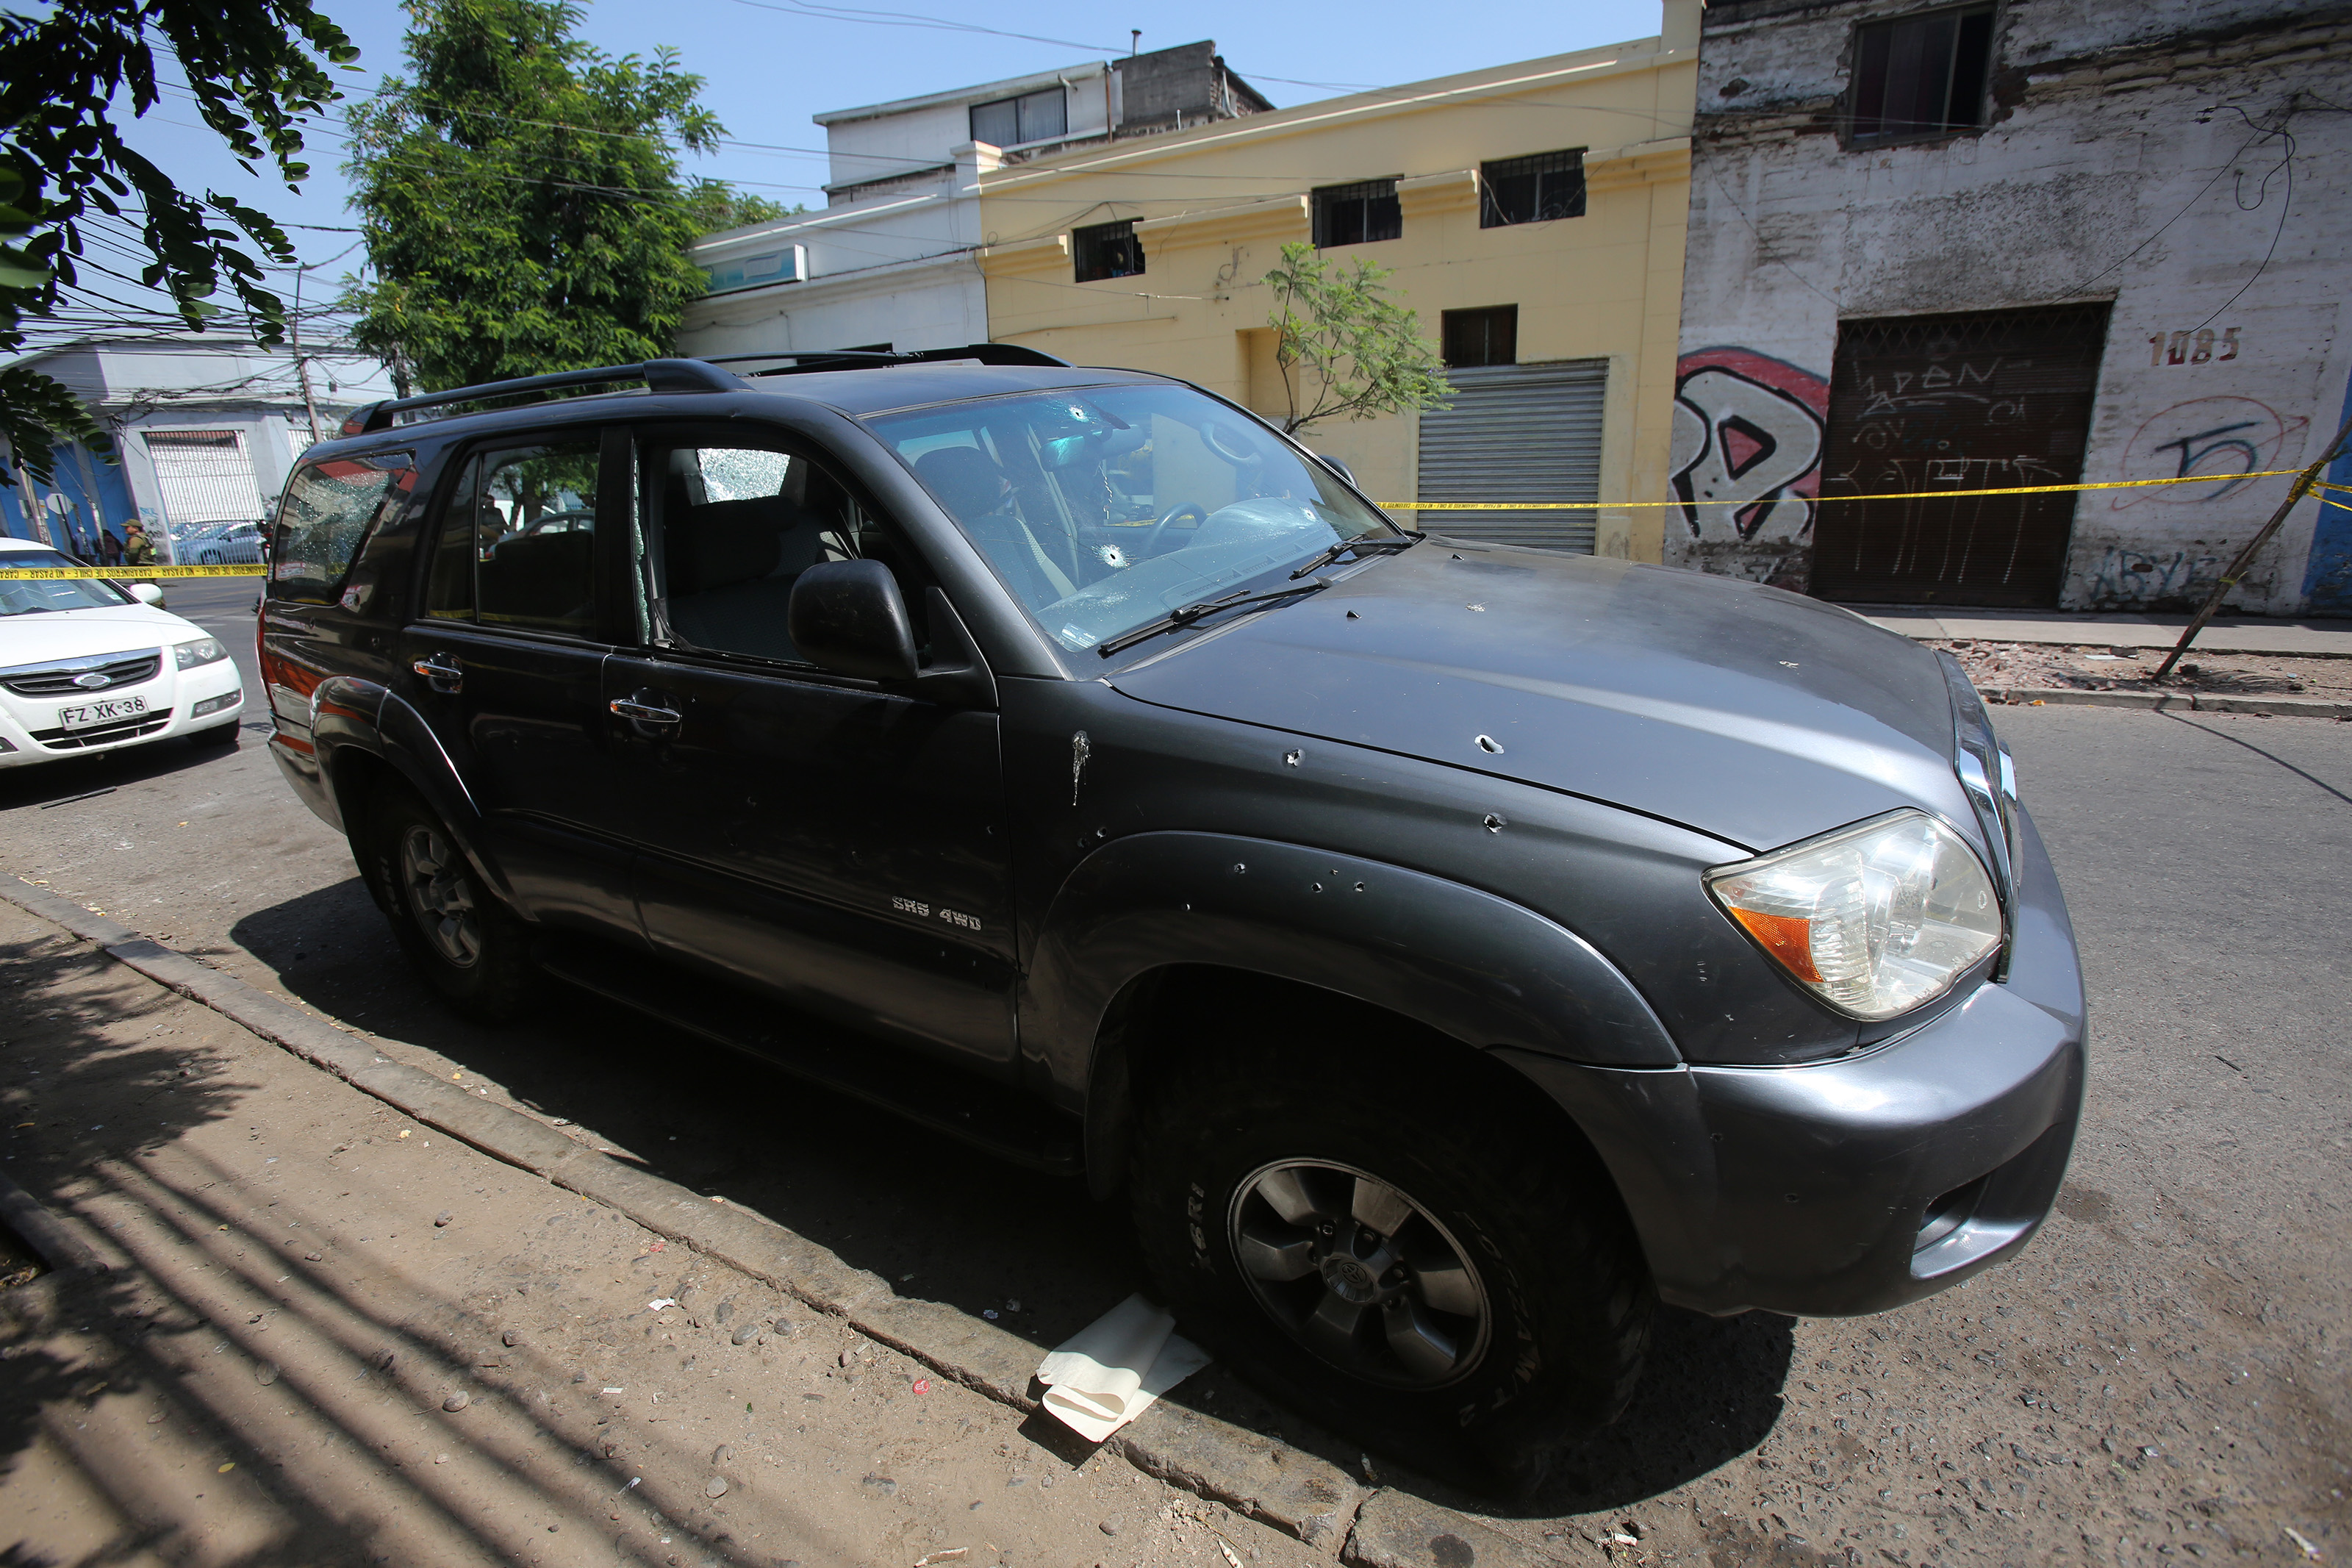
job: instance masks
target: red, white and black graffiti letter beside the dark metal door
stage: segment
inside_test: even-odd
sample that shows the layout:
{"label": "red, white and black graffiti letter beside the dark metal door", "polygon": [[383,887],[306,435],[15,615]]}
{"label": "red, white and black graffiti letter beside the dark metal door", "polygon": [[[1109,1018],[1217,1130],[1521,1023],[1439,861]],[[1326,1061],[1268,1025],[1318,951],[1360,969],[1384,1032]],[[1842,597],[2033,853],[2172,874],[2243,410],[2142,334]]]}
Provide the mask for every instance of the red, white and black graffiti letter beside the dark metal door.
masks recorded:
{"label": "red, white and black graffiti letter beside the dark metal door", "polygon": [[1830,381],[1750,348],[1675,364],[1672,484],[1691,538],[1802,538],[1820,494]]}

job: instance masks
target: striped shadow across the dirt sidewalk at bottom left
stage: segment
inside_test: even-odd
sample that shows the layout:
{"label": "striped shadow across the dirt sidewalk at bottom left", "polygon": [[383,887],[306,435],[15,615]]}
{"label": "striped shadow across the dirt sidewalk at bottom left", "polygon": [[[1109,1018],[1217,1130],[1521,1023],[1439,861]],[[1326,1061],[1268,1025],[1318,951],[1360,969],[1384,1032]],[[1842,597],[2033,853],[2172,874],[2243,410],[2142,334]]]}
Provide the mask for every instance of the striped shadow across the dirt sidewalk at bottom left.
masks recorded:
{"label": "striped shadow across the dirt sidewalk at bottom left", "polygon": [[[56,1559],[19,1535],[35,1528],[21,1514],[0,1526],[0,1563],[539,1561],[534,1542],[557,1530],[619,1563],[680,1563],[654,1544],[663,1530],[684,1535],[696,1563],[781,1561],[727,1537],[703,1497],[654,1481],[656,1467],[708,1469],[684,1434],[633,1427],[649,1483],[619,1493],[595,1406],[550,1408],[539,1392],[579,1382],[572,1363],[532,1345],[485,1363],[494,1328],[452,1281],[332,1241],[308,1241],[325,1260],[289,1246],[289,1215],[299,1237],[334,1229],[329,1192],[313,1182],[261,1206],[256,1178],[186,1143],[259,1117],[259,1086],[202,1046],[120,1044],[127,1020],[181,999],[155,990],[122,1011],[40,985],[103,969],[66,938],[0,945],[16,1011],[0,1091],[9,1171],[115,1253],[106,1274],[0,1291],[0,1474],[54,1505],[42,1528],[96,1537]],[[56,1105],[75,1107],[71,1121],[42,1114]],[[85,1131],[85,1117],[103,1121]],[[494,1399],[442,1420],[447,1389],[468,1385]],[[633,1512],[616,1526],[623,1495]],[[814,1519],[793,1526],[821,1559],[854,1561]]]}

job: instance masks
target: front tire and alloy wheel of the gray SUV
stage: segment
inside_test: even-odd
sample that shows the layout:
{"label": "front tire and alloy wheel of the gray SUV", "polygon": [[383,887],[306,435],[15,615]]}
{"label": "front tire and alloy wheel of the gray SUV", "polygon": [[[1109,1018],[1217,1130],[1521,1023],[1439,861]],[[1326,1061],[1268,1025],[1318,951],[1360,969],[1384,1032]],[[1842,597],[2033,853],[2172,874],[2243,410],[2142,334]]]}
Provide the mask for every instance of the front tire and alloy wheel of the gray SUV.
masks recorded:
{"label": "front tire and alloy wheel of the gray SUV", "polygon": [[[1268,1011],[1228,999],[1188,1032],[1230,1041]],[[1625,1408],[1653,1307],[1616,1187],[1534,1093],[1336,999],[1181,1051],[1136,1117],[1145,1262],[1185,1331],[1277,1396],[1524,1490]],[[1376,1227],[1350,1246],[1359,1215]]]}

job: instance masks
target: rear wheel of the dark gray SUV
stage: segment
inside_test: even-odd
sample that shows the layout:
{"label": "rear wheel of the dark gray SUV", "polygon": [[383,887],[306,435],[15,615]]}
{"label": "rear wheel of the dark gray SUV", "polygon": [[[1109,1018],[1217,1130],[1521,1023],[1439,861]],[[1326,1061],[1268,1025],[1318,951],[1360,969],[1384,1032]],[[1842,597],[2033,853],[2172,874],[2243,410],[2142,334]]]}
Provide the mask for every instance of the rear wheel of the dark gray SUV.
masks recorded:
{"label": "rear wheel of the dark gray SUV", "polygon": [[367,856],[393,936],[442,1001],[482,1023],[529,1011],[536,990],[529,929],[482,884],[447,823],[405,785],[376,797]]}

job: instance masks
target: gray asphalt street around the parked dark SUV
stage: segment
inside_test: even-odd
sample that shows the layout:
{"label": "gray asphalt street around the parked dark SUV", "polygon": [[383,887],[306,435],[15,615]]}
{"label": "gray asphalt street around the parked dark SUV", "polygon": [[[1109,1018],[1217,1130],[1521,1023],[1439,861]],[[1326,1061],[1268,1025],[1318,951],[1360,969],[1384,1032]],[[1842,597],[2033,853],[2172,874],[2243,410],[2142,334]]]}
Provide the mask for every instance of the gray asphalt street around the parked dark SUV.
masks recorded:
{"label": "gray asphalt street around the parked dark SUV", "polygon": [[[172,609],[247,668],[259,726],[249,607],[242,581],[172,585]],[[1635,1408],[1534,1500],[1496,1505],[1374,1455],[1383,1481],[1566,1561],[1602,1549],[1717,1563],[2343,1559],[2352,724],[2096,708],[1994,717],[2065,882],[2091,987],[2084,1135],[2037,1244],[1969,1288],[1875,1319],[1668,1314]],[[757,1063],[567,997],[510,1030],[449,1016],[259,733],[214,757],[172,745],[0,773],[0,872],[767,1213],[903,1293],[997,1312],[1040,1349],[1141,1279],[1122,1218],[1070,1185],[943,1147]],[[5,961],[56,961],[35,947],[12,943]],[[0,1053],[12,1112],[0,1164],[73,1206],[75,1175],[122,1145],[82,1131],[96,1114],[14,1114],[47,1093],[24,1060]],[[247,1077],[254,1088],[216,1091],[219,1117],[268,1128],[292,1152],[310,1133],[280,1128],[261,1077]],[[501,1201],[546,1208],[543,1194]],[[329,1199],[320,1206],[320,1222],[341,1222]],[[1216,1368],[1176,1399],[1364,1465]],[[985,1420],[1009,1453],[1047,1465],[1011,1413]],[[1054,1497],[1033,1490],[1021,1507],[1049,1523]],[[1047,1523],[1037,1561],[1068,1544]],[[1087,1561],[1145,1561],[1122,1552],[1105,1540]]]}

